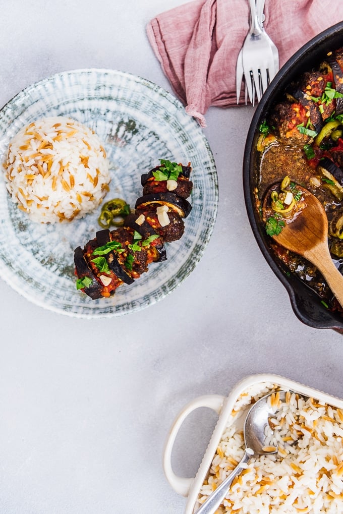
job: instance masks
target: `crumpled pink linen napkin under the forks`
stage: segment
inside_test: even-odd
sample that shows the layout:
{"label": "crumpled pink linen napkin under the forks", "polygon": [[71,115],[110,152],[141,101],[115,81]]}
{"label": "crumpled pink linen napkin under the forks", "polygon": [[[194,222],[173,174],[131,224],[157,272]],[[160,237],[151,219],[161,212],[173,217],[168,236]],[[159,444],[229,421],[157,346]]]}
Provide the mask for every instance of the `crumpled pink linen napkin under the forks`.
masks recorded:
{"label": "crumpled pink linen napkin under the forks", "polygon": [[[264,14],[264,28],[278,47],[281,67],[303,44],[343,20],[343,2],[266,0]],[[174,93],[203,127],[210,105],[237,105],[236,61],[248,20],[247,0],[194,0],[147,25]]]}

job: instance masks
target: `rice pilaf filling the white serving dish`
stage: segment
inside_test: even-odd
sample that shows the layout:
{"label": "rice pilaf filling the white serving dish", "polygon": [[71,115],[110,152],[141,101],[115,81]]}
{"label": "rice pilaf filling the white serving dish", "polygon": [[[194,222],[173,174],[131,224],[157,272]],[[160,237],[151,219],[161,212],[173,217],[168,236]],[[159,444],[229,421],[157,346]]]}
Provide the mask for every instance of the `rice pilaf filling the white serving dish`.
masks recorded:
{"label": "rice pilaf filling the white serving dish", "polygon": [[[260,391],[258,391],[260,388]],[[244,452],[242,420],[247,407],[275,391],[276,418],[266,444],[278,453],[251,458],[233,480],[216,514],[337,514],[343,511],[343,412],[314,398],[287,392],[278,400],[273,384],[258,384],[241,395],[212,460],[198,501],[229,475]]]}

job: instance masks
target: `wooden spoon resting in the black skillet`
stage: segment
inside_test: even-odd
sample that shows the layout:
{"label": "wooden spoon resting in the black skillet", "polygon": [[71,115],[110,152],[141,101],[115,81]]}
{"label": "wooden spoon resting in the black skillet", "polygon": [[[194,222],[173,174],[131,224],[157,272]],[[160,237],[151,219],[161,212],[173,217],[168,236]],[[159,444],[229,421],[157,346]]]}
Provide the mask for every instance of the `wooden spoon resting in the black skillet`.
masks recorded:
{"label": "wooden spoon resting in the black skillet", "polygon": [[[273,239],[314,264],[327,281],[337,301],[343,307],[343,276],[334,265],[328,247],[328,218],[320,201],[310,191],[296,186],[302,198],[299,210],[290,218],[284,218],[285,226]],[[275,214],[270,208],[270,193],[277,185],[270,188],[262,207],[263,220]]]}

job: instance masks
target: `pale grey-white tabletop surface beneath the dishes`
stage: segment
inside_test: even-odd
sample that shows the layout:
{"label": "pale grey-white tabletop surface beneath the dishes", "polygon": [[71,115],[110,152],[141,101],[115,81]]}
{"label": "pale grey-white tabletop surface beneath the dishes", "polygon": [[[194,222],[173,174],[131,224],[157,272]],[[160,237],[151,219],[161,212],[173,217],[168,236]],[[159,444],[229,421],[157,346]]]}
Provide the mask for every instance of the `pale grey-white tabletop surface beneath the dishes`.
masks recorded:
{"label": "pale grey-white tabletop surface beneath the dishes", "polygon": [[[0,104],[55,72],[132,72],[168,90],[145,27],[178,0],[0,1]],[[228,71],[233,72],[233,70]],[[0,281],[1,514],[182,513],[161,466],[172,421],[198,395],[270,372],[343,397],[343,337],[303,325],[252,236],[242,189],[251,107],[211,108],[218,218],[191,276],[138,313],[80,320]],[[187,420],[176,473],[193,476],[215,416]]]}

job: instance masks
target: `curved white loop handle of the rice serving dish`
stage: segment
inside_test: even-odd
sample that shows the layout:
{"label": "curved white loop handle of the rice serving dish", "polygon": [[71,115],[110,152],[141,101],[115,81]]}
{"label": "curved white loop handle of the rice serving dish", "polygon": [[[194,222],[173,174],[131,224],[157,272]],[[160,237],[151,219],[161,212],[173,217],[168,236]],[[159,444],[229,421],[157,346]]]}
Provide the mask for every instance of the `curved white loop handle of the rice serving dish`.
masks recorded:
{"label": "curved white loop handle of the rice serving dish", "polygon": [[167,441],[163,454],[163,468],[166,475],[166,478],[174,491],[178,494],[182,494],[183,496],[187,496],[189,493],[189,489],[194,478],[183,478],[181,476],[175,475],[171,465],[171,454],[174,446],[174,442],[177,436],[177,433],[184,423],[186,417],[195,409],[200,407],[208,407],[212,409],[216,414],[220,414],[223,403],[225,400],[225,396],[221,396],[218,394],[204,395],[195,398],[190,401],[176,416],[174,423],[169,431],[167,436]]}

